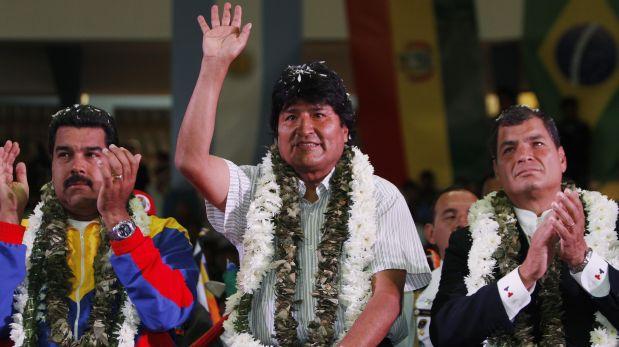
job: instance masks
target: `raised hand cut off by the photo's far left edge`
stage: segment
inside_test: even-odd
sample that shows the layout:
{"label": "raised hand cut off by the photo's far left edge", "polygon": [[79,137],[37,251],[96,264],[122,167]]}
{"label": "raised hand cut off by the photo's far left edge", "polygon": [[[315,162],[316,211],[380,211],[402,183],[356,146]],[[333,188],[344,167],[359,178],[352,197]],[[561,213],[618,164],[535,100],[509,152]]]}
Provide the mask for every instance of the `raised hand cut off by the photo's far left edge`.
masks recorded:
{"label": "raised hand cut off by the photo's far left edge", "polygon": [[0,147],[0,221],[13,224],[19,223],[30,192],[26,165],[13,167],[19,152],[19,144],[10,140]]}

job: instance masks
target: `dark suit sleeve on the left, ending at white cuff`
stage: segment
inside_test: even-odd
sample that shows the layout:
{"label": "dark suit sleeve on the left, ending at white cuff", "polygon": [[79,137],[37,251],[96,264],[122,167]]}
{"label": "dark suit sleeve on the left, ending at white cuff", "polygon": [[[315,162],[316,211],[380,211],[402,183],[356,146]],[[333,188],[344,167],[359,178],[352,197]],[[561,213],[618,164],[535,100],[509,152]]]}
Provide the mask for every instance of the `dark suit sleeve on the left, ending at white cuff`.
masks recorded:
{"label": "dark suit sleeve on the left, ending at white cuff", "polygon": [[496,282],[467,296],[464,277],[472,241],[468,229],[455,231],[445,252],[439,290],[432,305],[430,337],[435,346],[481,344],[512,322],[501,302]]}

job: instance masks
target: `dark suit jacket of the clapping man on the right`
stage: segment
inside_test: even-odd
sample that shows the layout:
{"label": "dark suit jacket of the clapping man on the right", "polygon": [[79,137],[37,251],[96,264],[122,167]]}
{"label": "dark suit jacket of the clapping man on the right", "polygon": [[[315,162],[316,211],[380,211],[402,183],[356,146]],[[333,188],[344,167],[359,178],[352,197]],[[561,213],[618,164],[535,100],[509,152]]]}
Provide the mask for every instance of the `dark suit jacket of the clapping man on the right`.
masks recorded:
{"label": "dark suit jacket of the clapping man on the right", "polygon": [[[522,263],[529,249],[526,236],[520,233],[518,257]],[[496,281],[467,296],[464,277],[468,275],[467,259],[472,245],[468,229],[455,231],[449,239],[449,248],[441,273],[439,291],[432,306],[430,336],[435,346],[478,346],[488,336],[499,330],[513,331],[499,296]],[[603,298],[594,298],[570,275],[564,263],[561,269],[561,294],[563,297],[562,318],[567,346],[589,346],[590,331],[595,311],[600,311],[615,326],[619,327],[619,271],[609,265],[610,293]],[[495,279],[501,276],[495,271]],[[523,309],[531,314],[534,333],[539,332],[537,292],[539,284],[531,295],[531,302]]]}

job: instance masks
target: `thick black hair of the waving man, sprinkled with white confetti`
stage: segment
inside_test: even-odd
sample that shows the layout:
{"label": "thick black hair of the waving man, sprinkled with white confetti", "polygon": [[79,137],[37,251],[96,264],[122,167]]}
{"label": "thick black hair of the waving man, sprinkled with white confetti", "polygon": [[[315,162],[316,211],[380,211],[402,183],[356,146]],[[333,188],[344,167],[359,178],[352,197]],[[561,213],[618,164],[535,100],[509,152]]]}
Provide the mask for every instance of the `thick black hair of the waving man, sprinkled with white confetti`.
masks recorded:
{"label": "thick black hair of the waving man, sprinkled with white confetti", "polygon": [[299,101],[325,103],[333,107],[352,137],[355,125],[352,102],[344,81],[324,62],[290,65],[282,71],[271,95],[270,126],[274,137],[277,137],[279,113]]}

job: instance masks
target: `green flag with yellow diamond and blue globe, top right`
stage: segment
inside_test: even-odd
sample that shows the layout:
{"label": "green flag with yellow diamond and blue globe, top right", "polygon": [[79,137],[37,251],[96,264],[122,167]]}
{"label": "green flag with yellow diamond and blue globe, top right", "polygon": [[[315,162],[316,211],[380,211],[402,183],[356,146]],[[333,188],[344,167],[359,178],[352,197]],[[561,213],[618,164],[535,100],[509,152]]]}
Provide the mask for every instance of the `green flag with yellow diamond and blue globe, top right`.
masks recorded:
{"label": "green flag with yellow diamond and blue globe, top right", "polygon": [[562,98],[578,100],[592,130],[591,178],[611,187],[619,180],[619,1],[527,0],[524,43],[542,109],[561,116]]}

